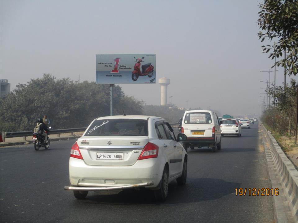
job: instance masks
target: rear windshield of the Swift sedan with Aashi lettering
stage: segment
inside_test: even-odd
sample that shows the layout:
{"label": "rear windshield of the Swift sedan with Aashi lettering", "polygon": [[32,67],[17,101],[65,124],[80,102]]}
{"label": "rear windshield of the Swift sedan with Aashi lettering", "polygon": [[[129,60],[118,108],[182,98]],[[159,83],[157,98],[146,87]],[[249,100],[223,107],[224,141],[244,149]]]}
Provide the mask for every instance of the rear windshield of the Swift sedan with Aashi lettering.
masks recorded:
{"label": "rear windshield of the Swift sedan with Aashi lettering", "polygon": [[95,120],[84,136],[148,136],[148,120],[101,119]]}

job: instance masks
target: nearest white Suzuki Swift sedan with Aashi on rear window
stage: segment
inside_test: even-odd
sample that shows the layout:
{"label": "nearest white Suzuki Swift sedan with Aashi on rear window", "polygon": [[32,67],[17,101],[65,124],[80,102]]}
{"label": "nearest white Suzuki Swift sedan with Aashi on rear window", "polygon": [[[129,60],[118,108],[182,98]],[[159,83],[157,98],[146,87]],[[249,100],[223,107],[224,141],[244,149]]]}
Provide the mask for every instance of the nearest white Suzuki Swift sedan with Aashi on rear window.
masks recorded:
{"label": "nearest white Suzuki Swift sedan with Aashi on rear window", "polygon": [[70,150],[69,178],[77,199],[88,191],[146,187],[165,200],[169,182],[183,185],[187,152],[169,123],[152,116],[106,116],[88,126]]}

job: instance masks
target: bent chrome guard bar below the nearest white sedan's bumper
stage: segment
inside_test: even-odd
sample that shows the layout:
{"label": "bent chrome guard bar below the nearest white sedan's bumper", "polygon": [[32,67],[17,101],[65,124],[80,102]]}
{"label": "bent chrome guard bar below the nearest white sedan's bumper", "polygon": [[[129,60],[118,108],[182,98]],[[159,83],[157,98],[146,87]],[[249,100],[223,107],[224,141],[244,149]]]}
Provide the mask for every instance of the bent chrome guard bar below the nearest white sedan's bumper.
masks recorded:
{"label": "bent chrome guard bar below the nearest white sedan's bumper", "polygon": [[123,190],[135,187],[145,187],[145,186],[152,186],[154,183],[153,181],[149,181],[146,183],[139,183],[139,184],[129,184],[124,186],[107,186],[107,187],[77,187],[77,186],[65,186],[64,190],[87,190],[87,191],[97,191],[97,190]]}

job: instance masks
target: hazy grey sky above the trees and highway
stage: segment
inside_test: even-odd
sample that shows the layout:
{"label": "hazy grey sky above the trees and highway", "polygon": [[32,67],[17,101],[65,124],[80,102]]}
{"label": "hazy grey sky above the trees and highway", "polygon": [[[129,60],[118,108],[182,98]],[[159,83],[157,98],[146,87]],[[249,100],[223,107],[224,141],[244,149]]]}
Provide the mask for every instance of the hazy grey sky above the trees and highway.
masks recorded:
{"label": "hazy grey sky above the trees and highway", "polygon": [[[268,73],[260,70],[272,60],[261,53],[255,0],[1,0],[0,7],[1,78],[12,89],[43,73],[95,81],[96,54],[154,53],[157,78],[171,79],[168,97],[178,107],[189,100],[222,114],[261,112]],[[282,85],[283,68],[276,74]],[[158,84],[120,86],[160,104]]]}

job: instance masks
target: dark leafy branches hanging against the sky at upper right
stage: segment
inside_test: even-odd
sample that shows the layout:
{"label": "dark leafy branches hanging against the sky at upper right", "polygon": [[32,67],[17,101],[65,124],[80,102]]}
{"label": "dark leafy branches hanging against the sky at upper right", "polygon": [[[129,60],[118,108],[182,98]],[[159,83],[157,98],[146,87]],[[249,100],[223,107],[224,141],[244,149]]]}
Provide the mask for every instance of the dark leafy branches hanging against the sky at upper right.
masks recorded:
{"label": "dark leafy branches hanging against the sky at upper right", "polygon": [[296,75],[298,70],[298,1],[264,0],[259,7],[258,25],[265,31],[258,33],[259,39],[261,42],[266,38],[270,42],[277,40],[273,45],[262,46],[262,49],[270,53],[271,59],[282,57],[284,52],[288,51],[286,59],[280,59],[275,64],[285,67],[289,76]]}

